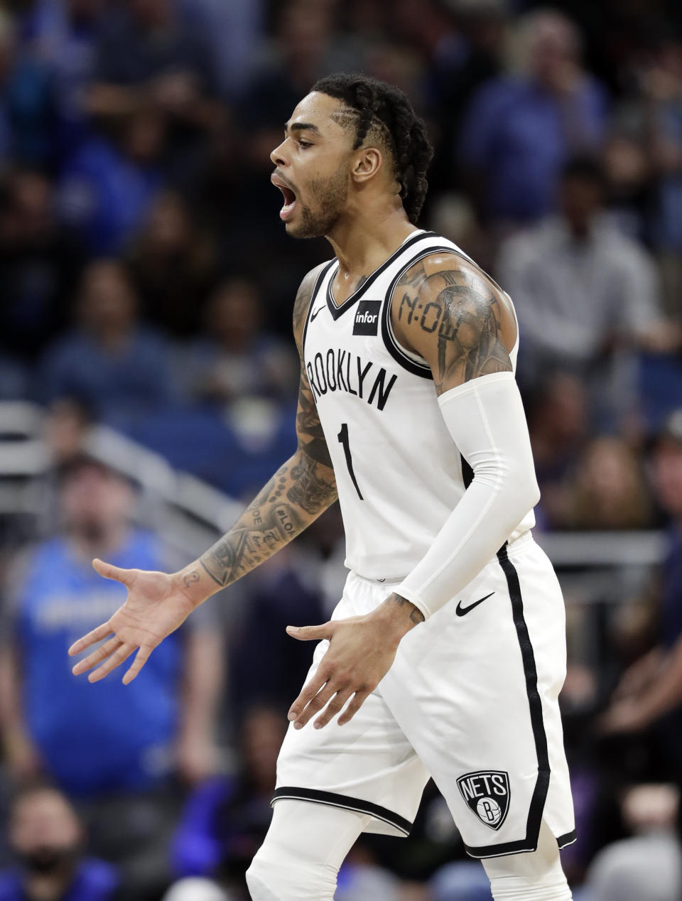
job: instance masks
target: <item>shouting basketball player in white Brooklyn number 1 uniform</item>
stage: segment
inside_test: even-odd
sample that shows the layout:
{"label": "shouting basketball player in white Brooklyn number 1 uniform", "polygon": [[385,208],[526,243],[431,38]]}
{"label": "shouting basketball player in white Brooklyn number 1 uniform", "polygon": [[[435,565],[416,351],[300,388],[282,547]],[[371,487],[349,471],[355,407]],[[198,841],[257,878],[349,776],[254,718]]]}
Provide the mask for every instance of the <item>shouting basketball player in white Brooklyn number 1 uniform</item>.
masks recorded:
{"label": "shouting basketball player in white Brooklyn number 1 uniform", "polygon": [[409,833],[429,775],[496,901],[570,898],[564,609],[530,532],[514,308],[415,227],[431,155],[406,97],[375,79],[323,78],[296,106],[271,155],[280,217],[335,253],[296,296],[298,449],[186,569],[95,560],[128,598],[71,648],[108,639],[74,668],[98,666],[91,681],[137,651],[130,682],[196,605],[338,496],[350,573],[332,622],[287,630],[319,643],[247,874],[255,901],[331,901],[359,833]]}

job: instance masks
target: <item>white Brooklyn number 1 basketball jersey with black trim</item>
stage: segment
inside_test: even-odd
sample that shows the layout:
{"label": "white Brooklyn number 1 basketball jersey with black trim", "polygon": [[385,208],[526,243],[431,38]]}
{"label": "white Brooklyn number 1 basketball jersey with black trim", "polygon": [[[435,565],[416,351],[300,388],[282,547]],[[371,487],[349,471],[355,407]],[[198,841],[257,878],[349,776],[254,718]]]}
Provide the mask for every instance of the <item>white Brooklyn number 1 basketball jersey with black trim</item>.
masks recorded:
{"label": "white Brooklyn number 1 basketball jersey with black trim", "polygon": [[[399,278],[434,251],[473,262],[452,241],[413,232],[339,306],[332,296],[339,268],[333,259],[317,278],[305,321],[305,370],[339,490],[346,566],[365,578],[405,577],[470,478],[443,423],[429,365],[398,344],[391,326]],[[410,313],[433,320],[435,330],[435,309],[428,307]],[[517,350],[518,336],[510,355],[514,369]],[[534,524],[531,512],[510,541]]]}

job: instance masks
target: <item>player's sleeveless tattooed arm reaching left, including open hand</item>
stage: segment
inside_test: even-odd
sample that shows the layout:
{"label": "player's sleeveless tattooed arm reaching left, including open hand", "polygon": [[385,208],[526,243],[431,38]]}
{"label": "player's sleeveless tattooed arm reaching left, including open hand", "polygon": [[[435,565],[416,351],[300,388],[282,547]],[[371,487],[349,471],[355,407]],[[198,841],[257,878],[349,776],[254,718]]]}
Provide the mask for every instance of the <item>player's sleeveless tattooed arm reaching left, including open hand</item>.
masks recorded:
{"label": "player's sleeveless tattooed arm reaching left, including open hand", "polygon": [[294,306],[294,333],[302,358],[296,453],[277,469],[232,529],[185,569],[170,574],[145,572],[94,561],[100,575],[122,582],[128,588],[128,597],[110,620],[70,648],[70,654],[77,654],[113,633],[108,642],[77,663],[74,667],[77,675],[100,664],[89,678],[91,681],[104,678],[137,651],[123,679],[130,682],[151,651],[197,605],[268,560],[336,500],[332,460],[303,367],[303,326],[318,272],[319,268],[314,269],[305,277]]}

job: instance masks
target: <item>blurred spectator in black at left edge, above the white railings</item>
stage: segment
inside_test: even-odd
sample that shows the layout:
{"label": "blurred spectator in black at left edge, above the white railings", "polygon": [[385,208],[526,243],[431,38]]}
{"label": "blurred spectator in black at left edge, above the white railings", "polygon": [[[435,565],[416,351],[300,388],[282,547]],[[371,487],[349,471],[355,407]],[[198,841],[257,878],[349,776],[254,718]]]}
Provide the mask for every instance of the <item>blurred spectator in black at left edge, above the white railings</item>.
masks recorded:
{"label": "blurred spectator in black at left edge, above the white railings", "polygon": [[66,323],[82,253],[59,229],[50,179],[17,168],[0,199],[0,346],[32,359]]}

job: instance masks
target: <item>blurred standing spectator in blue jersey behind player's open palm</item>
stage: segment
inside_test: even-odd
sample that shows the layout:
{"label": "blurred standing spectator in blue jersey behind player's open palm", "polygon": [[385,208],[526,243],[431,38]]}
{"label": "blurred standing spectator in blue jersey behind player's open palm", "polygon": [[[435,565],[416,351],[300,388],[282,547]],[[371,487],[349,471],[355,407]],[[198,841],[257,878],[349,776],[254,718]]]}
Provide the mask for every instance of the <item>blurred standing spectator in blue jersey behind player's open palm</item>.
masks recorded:
{"label": "blurred standing spectator in blue jersey behind player's open palm", "polygon": [[[167,878],[167,842],[177,808],[173,774],[190,782],[216,766],[214,708],[221,688],[220,636],[200,616],[150,661],[135,691],[120,679],[94,689],[71,672],[68,648],[121,604],[91,560],[165,569],[155,535],[129,525],[135,496],[125,478],[94,460],[62,472],[62,532],[30,551],[6,611],[2,724],[16,778],[54,779],[86,813],[91,847],[120,862],[130,895]],[[204,617],[209,615],[205,611]],[[194,617],[193,617],[194,620]]]}

